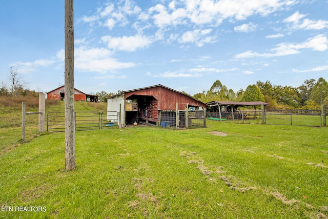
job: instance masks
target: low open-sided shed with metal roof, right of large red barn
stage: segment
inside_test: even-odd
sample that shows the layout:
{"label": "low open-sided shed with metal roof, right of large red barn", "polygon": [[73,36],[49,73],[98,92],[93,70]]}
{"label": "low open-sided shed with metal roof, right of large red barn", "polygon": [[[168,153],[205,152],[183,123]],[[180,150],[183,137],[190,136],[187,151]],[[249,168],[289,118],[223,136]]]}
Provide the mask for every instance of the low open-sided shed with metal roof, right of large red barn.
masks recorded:
{"label": "low open-sided shed with metal roof, right of large red barn", "polygon": [[[254,110],[256,109],[256,106],[268,106],[268,103],[264,103],[261,101],[252,101],[252,102],[234,102],[234,101],[212,101],[207,103],[209,105],[208,114],[211,114],[211,112],[218,112],[220,120],[221,117],[221,107],[226,107],[227,109],[231,107],[232,112],[237,112],[237,108],[239,107],[247,107],[247,106],[254,106]],[[213,111],[214,110],[214,111]],[[217,117],[217,116],[216,116]],[[232,118],[234,120],[234,113],[232,113]]]}

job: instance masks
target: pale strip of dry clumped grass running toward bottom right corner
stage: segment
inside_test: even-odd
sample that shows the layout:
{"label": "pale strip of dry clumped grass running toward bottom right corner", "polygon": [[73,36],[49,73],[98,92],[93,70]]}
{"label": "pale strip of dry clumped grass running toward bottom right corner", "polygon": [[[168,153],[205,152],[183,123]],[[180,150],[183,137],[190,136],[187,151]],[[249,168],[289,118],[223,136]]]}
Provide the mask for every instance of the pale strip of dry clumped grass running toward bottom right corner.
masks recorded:
{"label": "pale strip of dry clumped grass running toward bottom right corner", "polygon": [[[226,176],[225,173],[227,173],[227,171],[223,170],[223,167],[221,167],[221,166],[216,167],[216,166],[205,165],[205,161],[200,156],[198,156],[196,152],[182,151],[180,153],[180,156],[186,157],[189,164],[198,164],[198,166],[196,168],[199,169],[203,175],[208,177],[208,179],[211,183],[216,182],[216,177],[217,177],[220,180],[222,180],[224,182],[224,184],[229,186],[229,189],[237,190],[241,193],[251,191],[251,190],[261,190],[265,195],[273,196],[274,198],[276,198],[277,200],[279,200],[280,202],[282,202],[285,205],[288,205],[288,206],[297,205],[299,207],[304,206],[306,209],[317,211],[317,212],[310,212],[310,213],[307,212],[310,215],[310,218],[313,218],[313,219],[314,218],[324,218],[324,219],[326,218],[326,219],[328,219],[328,217],[322,213],[322,211],[323,212],[328,211],[327,206],[321,206],[321,208],[318,209],[308,203],[303,203],[303,202],[295,200],[293,198],[288,199],[286,196],[284,196],[279,191],[270,191],[269,189],[266,189],[266,188],[246,185],[244,182],[242,182],[241,180],[238,180],[238,178],[233,175]],[[278,158],[279,160],[281,158],[283,158],[283,157],[278,157],[278,156],[271,156],[271,157]]]}

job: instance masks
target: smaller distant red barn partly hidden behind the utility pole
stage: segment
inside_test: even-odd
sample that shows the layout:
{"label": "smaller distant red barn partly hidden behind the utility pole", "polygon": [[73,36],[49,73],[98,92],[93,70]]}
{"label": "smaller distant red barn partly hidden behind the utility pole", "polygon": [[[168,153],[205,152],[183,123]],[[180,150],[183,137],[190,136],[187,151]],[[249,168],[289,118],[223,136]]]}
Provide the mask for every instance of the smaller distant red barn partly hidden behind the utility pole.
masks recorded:
{"label": "smaller distant red barn partly hidden behind the utility pole", "polygon": [[[65,86],[61,86],[52,91],[47,92],[47,98],[48,99],[60,99],[60,101],[64,101]],[[74,101],[98,102],[98,96],[86,94],[86,93],[74,88]]]}

